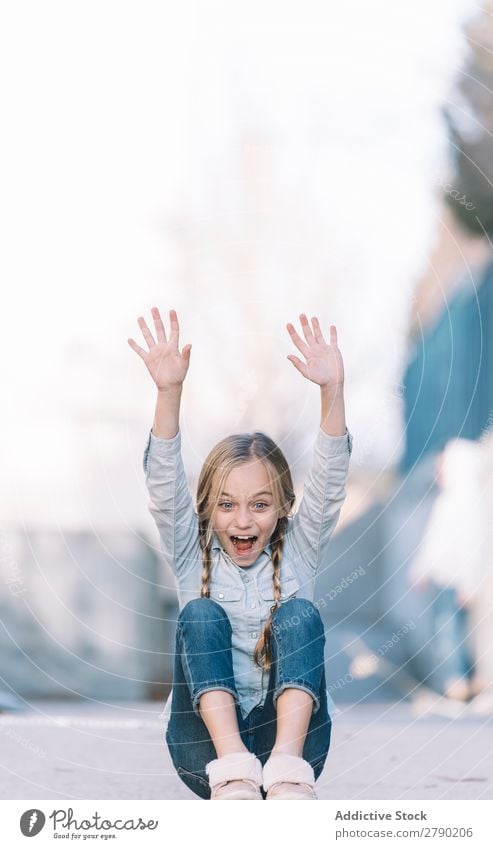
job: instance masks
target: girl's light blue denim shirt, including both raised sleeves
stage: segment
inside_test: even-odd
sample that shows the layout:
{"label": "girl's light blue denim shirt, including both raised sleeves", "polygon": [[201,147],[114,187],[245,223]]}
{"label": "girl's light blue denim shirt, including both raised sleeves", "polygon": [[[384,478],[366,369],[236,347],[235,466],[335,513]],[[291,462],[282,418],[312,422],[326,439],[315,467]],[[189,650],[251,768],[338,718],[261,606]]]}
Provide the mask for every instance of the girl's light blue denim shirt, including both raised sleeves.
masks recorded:
{"label": "girl's light blue denim shirt, including both raised sleeves", "polygon": [[[328,436],[319,428],[303,496],[288,519],[281,560],[281,603],[293,596],[314,600],[318,567],[327,562],[327,549],[346,497],[352,435]],[[149,432],[144,451],[149,510],[159,530],[161,550],[176,579],[180,610],[200,597],[202,555],[198,517],[190,495],[181,456],[181,433],[161,439]],[[274,604],[271,546],[248,568],[237,566],[212,540],[210,598],[220,604],[232,626],[233,670],[243,717],[264,703],[269,674],[253,660],[253,652]],[[329,713],[334,707],[328,699]],[[171,698],[164,712],[169,718]]]}

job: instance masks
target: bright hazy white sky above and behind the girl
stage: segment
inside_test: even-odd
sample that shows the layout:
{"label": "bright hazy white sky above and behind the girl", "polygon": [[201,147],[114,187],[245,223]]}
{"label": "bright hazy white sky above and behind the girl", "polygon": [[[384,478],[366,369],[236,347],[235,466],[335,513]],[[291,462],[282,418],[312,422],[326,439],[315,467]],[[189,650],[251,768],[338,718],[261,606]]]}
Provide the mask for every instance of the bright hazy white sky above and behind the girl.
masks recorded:
{"label": "bright hazy white sky above and behind the girl", "polygon": [[148,521],[154,390],[126,339],[154,303],[193,343],[191,473],[240,427],[309,448],[317,391],[284,330],[301,310],[338,326],[355,464],[399,459],[471,8],[4,5],[3,521]]}

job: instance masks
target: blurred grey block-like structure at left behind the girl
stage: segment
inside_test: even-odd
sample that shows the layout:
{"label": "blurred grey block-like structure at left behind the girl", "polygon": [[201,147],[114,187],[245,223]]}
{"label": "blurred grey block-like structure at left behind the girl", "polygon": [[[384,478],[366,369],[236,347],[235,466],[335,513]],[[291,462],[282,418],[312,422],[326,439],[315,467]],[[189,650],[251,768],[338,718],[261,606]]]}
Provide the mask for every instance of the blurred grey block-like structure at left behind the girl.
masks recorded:
{"label": "blurred grey block-like structure at left behind the girl", "polygon": [[144,537],[17,529],[2,542],[1,691],[21,703],[169,691],[174,596]]}

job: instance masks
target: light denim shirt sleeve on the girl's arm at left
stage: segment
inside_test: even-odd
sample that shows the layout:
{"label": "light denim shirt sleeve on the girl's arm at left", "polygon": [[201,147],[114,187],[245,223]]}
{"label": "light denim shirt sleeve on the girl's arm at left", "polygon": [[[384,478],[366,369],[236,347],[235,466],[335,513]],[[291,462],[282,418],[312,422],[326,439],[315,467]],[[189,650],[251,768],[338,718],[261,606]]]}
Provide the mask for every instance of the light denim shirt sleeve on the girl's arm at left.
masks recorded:
{"label": "light denim shirt sleeve on the girl's arm at left", "polygon": [[149,432],[144,451],[144,474],[166,563],[177,577],[200,560],[198,516],[188,489],[181,456],[180,431],[172,439]]}

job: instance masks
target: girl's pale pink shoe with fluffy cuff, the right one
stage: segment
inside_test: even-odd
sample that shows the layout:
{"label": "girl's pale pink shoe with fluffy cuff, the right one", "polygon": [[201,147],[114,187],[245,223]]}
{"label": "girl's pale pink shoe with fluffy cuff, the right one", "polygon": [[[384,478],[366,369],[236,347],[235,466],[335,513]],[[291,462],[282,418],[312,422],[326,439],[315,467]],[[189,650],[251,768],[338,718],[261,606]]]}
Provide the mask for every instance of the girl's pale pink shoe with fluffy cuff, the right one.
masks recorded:
{"label": "girl's pale pink shoe with fluffy cuff, the right one", "polygon": [[317,799],[313,769],[296,755],[271,755],[263,769],[263,785],[267,801]]}

